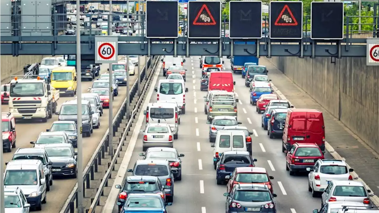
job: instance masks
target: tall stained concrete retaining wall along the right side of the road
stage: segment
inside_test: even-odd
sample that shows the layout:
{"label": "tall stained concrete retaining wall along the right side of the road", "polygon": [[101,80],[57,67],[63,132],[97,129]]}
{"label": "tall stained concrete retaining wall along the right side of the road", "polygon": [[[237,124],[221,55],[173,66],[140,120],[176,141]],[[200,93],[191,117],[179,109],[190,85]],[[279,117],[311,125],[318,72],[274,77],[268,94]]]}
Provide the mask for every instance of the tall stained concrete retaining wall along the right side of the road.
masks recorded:
{"label": "tall stained concrete retaining wall along the right side of the road", "polygon": [[[370,38],[372,34],[353,35]],[[268,59],[352,132],[379,152],[379,67],[365,57]]]}

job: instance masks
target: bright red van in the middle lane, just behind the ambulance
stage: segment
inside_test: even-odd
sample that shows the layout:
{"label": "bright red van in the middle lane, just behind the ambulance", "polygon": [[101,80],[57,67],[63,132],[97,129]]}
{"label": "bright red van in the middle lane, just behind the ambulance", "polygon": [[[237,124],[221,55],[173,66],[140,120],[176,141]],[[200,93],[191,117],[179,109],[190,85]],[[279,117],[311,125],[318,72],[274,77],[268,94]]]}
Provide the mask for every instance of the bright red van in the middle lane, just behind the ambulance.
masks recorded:
{"label": "bright red van in the middle lane, just behind the ambulance", "polygon": [[211,72],[209,76],[208,90],[225,90],[234,92],[235,81],[232,72]]}

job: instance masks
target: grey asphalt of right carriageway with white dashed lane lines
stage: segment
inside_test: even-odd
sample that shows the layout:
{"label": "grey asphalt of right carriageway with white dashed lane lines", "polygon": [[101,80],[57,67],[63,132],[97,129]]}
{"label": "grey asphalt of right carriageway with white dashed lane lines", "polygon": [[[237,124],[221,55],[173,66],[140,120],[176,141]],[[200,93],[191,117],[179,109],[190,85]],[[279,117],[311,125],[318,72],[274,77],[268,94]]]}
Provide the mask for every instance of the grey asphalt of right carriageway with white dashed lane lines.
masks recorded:
{"label": "grey asphalt of right carriageway with white dashed lane lines", "polygon": [[[230,70],[230,60],[224,58],[224,67]],[[182,158],[182,180],[175,182],[174,202],[168,207],[169,212],[181,213],[220,213],[225,212],[226,185],[216,184],[215,170],[213,169],[213,148],[208,140],[207,117],[204,113],[205,91],[200,91],[201,69],[199,56],[186,58],[184,63],[186,74],[186,114],[181,116],[179,138],[174,141],[174,147],[179,153],[185,154]],[[273,188],[276,197],[278,213],[306,213],[321,207],[321,199],[312,197],[308,191],[307,174],[290,176],[285,169],[285,154],[281,150],[281,139],[269,139],[266,130],[261,127],[261,115],[255,111],[255,106],[249,103],[249,90],[244,86],[244,79],[240,74],[233,75],[236,81],[235,92],[238,103],[238,121],[242,122],[250,132],[253,132],[253,157],[257,159],[256,166],[264,167],[269,175],[274,176]],[[159,79],[164,79],[162,72]],[[275,84],[275,82],[273,82]],[[151,87],[152,89],[153,87]],[[156,102],[157,94],[153,93],[150,102]],[[296,107],[296,106],[295,106]],[[144,126],[144,125],[143,125]],[[133,150],[129,169],[142,151],[142,133]],[[332,158],[325,153],[325,158]],[[130,175],[129,173],[126,174]],[[116,183],[121,184],[121,183]],[[116,202],[116,200],[114,201]],[[117,205],[113,212],[117,213]]]}

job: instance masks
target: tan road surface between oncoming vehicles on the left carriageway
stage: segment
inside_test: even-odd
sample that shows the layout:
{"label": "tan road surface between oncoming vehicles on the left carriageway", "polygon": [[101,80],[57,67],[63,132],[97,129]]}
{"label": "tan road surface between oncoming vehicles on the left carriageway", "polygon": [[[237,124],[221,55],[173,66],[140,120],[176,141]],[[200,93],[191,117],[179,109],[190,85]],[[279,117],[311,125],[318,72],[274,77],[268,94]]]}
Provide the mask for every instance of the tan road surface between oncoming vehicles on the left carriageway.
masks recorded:
{"label": "tan road surface between oncoming vehicles on the left carriageway", "polygon": [[[119,56],[119,58],[121,58]],[[144,66],[144,57],[141,57],[141,68]],[[100,65],[100,74],[107,72],[108,64]],[[135,75],[129,76],[130,87],[132,87],[135,79],[137,78],[137,67],[135,69]],[[82,81],[82,91],[83,93],[88,92],[88,88],[91,87],[93,81]],[[121,103],[126,97],[126,86],[119,86],[119,95],[113,99],[113,116],[117,113],[117,110],[121,106]],[[75,97],[60,97],[58,100],[57,111],[63,102],[67,100],[73,100]],[[3,112],[9,112],[8,105],[2,105]],[[83,169],[91,158],[96,147],[99,145],[100,139],[102,139],[104,133],[108,129],[108,109],[103,110],[104,114],[100,117],[100,128],[94,129],[91,137],[83,137]],[[32,147],[30,141],[34,141],[39,133],[45,132],[46,129],[50,128],[54,121],[58,121],[58,116],[53,114],[52,119],[49,119],[46,123],[41,121],[30,121],[30,122],[16,122],[16,148],[12,149],[12,152],[4,153],[4,162],[10,161],[13,153],[18,148],[28,148]],[[5,168],[5,165],[4,165]],[[53,179],[53,185],[50,191],[47,193],[47,203],[42,205],[42,213],[52,213],[57,212],[61,209],[67,197],[69,196],[72,188],[76,184],[76,179],[67,178],[55,178]]]}

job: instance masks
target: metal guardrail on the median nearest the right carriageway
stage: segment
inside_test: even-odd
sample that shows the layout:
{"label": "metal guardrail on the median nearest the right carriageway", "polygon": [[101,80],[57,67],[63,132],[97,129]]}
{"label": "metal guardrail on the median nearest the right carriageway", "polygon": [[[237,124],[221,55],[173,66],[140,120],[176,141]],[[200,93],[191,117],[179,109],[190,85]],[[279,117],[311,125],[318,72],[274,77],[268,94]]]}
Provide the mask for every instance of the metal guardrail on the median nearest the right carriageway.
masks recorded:
{"label": "metal guardrail on the median nearest the right carriageway", "polygon": [[[130,127],[132,127],[133,120],[138,115],[137,114],[138,108],[140,107],[140,105],[142,103],[142,100],[144,98],[145,92],[149,88],[150,81],[152,80],[152,76],[155,74],[155,72],[153,72],[153,70],[155,70],[157,68],[158,64],[160,63],[159,58],[160,58],[160,56],[154,61],[154,65],[153,65],[152,71],[149,73],[149,77],[147,78],[147,81],[146,81],[146,84],[144,86],[144,89],[141,92],[141,96],[139,96],[139,99],[138,99],[138,101],[136,103],[136,106],[135,106],[134,110],[132,111],[132,116],[130,117],[130,119],[128,121],[128,124],[126,125],[125,130],[122,133],[122,136],[120,138],[120,142],[121,141],[125,141],[127,133],[129,131]],[[108,179],[111,177],[111,172],[114,171],[114,166],[117,163],[117,158],[120,157],[120,151],[122,150],[122,146],[124,146],[124,143],[120,143],[120,142],[119,142],[119,145],[118,145],[116,151],[114,152],[113,159],[112,159],[112,161],[111,161],[111,163],[109,165],[109,168],[106,171],[106,173],[105,173],[105,175],[103,177],[102,182],[100,183],[99,190],[97,190],[95,198],[93,199],[93,201],[91,203],[91,207],[87,211],[88,213],[94,213],[95,212],[96,207],[99,205],[100,197],[103,195],[104,187],[108,186]]]}

